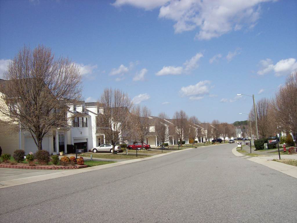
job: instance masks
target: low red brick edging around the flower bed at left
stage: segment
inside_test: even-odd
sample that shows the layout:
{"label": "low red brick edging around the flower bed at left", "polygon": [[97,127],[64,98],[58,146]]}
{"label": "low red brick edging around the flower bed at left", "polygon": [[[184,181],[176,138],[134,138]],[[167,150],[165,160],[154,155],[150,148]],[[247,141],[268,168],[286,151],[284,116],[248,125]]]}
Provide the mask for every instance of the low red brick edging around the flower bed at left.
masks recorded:
{"label": "low red brick edging around the flower bed at left", "polygon": [[88,165],[75,165],[75,166],[58,166],[58,165],[39,165],[35,164],[34,167],[30,167],[29,164],[17,163],[17,164],[0,164],[0,168],[11,168],[11,169],[81,169],[86,168]]}

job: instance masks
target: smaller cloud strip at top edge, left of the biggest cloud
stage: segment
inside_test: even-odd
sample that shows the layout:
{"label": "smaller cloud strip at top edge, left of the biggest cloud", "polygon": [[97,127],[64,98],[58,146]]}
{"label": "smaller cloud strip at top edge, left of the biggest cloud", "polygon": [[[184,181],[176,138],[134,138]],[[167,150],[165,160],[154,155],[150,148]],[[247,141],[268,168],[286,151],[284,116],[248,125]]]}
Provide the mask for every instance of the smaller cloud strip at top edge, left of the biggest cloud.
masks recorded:
{"label": "smaller cloud strip at top edge, left of the biggest cloud", "polygon": [[116,0],[112,5],[120,7],[125,4],[133,5],[145,10],[152,10],[156,7],[161,7],[170,0]]}

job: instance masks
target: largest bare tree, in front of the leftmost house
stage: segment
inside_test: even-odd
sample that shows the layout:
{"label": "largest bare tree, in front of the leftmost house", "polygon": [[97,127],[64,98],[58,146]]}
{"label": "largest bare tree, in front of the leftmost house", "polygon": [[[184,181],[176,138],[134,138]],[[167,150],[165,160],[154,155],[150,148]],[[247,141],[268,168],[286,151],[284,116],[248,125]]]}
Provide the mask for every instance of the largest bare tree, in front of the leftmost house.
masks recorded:
{"label": "largest bare tree, in front of the leftmost house", "polygon": [[[68,58],[56,58],[50,48],[24,46],[8,63],[0,83],[0,113],[5,121],[29,131],[39,150],[49,131],[67,126],[68,100],[81,97],[79,68]],[[72,117],[69,117],[72,118]]]}

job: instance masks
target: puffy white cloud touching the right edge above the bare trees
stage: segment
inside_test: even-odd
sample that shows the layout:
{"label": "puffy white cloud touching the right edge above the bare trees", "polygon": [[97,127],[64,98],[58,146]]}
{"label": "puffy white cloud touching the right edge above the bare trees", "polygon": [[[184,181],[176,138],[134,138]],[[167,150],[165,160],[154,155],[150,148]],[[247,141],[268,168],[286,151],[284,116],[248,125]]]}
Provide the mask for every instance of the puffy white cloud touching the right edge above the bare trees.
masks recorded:
{"label": "puffy white cloud touching the right edge above the bare trees", "polygon": [[271,59],[261,60],[259,62],[260,70],[258,70],[257,74],[264,75],[271,71],[274,71],[275,76],[282,76],[292,73],[295,69],[297,69],[297,62],[295,58],[282,59],[277,62],[275,65]]}

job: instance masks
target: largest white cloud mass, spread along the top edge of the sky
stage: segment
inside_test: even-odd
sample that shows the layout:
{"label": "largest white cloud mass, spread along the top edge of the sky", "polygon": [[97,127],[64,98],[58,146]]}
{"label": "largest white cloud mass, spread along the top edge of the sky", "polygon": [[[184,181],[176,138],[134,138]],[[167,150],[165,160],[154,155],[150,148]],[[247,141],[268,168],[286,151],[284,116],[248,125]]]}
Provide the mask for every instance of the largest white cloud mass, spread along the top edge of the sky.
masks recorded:
{"label": "largest white cloud mass, spread along the top edge of the sky", "polygon": [[195,38],[209,40],[232,30],[251,29],[260,18],[260,3],[275,0],[116,0],[114,6],[125,4],[152,10],[160,8],[159,18],[175,22],[176,33],[199,28]]}

